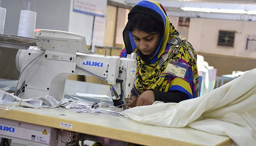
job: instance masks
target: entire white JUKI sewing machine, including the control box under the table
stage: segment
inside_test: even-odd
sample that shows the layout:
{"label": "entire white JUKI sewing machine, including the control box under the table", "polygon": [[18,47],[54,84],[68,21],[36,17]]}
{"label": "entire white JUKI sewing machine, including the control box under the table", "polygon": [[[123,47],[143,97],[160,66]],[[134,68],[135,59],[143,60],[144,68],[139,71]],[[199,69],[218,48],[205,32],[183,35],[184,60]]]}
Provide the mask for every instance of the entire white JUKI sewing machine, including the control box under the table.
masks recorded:
{"label": "entire white JUKI sewing machine, including the control box under the table", "polygon": [[[37,40],[5,37],[2,42],[7,44],[5,46],[17,48],[12,47],[13,43],[5,42],[8,39],[15,39],[22,44],[37,43],[37,47],[18,45],[21,48],[16,54],[16,67],[20,71],[20,76],[15,92],[16,96],[29,99],[50,95],[60,101],[64,97],[67,77],[70,74],[78,74],[94,76],[107,81],[111,85],[114,103],[125,107],[125,100],[130,96],[135,79],[135,53],[128,55],[127,58],[94,54],[87,49],[84,36],[56,30],[35,30],[35,39]],[[1,115],[0,113],[0,117]],[[56,146],[57,143],[58,146],[63,146],[78,142],[77,132],[74,137],[68,137],[67,134],[72,134],[72,132],[56,131],[48,126],[35,125],[34,122],[18,123],[17,127],[16,121],[1,118],[0,124],[0,137],[4,138],[51,146]],[[60,126],[65,127],[65,124],[60,124]],[[43,132],[41,132],[42,128],[44,128]],[[23,134],[20,132],[26,133],[26,135],[22,136]],[[55,138],[56,134],[59,135],[57,138]],[[82,136],[80,135],[79,138]],[[83,139],[89,138],[86,136]]]}

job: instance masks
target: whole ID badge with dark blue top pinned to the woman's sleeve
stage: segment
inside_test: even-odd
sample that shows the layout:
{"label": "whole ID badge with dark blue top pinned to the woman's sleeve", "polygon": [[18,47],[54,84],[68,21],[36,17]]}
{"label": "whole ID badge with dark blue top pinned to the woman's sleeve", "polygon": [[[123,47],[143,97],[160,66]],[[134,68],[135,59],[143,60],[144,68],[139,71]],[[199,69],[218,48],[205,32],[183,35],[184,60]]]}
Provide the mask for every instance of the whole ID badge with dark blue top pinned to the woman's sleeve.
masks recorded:
{"label": "whole ID badge with dark blue top pinned to the woman's sleeve", "polygon": [[168,63],[165,70],[170,76],[185,78],[188,68],[188,64],[173,61]]}

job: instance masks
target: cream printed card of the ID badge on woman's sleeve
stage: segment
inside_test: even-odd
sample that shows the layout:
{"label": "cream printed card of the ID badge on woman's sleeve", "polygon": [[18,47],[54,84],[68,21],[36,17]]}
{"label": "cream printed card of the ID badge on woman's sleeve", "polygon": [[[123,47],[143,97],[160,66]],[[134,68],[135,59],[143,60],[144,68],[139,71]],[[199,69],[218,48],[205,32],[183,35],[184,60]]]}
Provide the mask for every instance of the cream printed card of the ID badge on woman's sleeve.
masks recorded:
{"label": "cream printed card of the ID badge on woman's sleeve", "polygon": [[177,77],[184,78],[186,74],[187,69],[182,68],[180,66],[176,66],[173,64],[168,64],[166,67],[166,72]]}

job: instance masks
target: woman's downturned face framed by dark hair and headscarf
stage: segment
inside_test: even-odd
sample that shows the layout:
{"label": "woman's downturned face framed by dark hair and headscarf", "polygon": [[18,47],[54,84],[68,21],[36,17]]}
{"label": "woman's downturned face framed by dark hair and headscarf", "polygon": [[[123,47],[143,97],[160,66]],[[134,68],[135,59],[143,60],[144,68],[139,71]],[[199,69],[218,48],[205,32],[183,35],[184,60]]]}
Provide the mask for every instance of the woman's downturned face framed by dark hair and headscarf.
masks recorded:
{"label": "woman's downturned face framed by dark hair and headscarf", "polygon": [[148,55],[149,57],[153,57],[155,50],[160,42],[160,33],[152,33],[148,34],[145,31],[141,31],[138,28],[132,31],[133,40],[138,47],[138,49],[144,54]]}

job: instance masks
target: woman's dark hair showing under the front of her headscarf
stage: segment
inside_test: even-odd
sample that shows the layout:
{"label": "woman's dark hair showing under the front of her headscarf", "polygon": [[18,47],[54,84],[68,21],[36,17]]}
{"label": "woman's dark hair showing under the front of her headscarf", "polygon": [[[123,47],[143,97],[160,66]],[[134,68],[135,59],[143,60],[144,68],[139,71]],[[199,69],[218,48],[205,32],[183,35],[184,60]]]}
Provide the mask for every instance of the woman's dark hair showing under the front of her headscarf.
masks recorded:
{"label": "woman's dark hair showing under the front of her headscarf", "polygon": [[148,34],[156,34],[159,32],[161,35],[163,35],[164,33],[163,22],[157,20],[150,14],[132,12],[128,17],[129,20],[126,27],[128,31],[133,31],[138,28],[139,30],[145,31]]}

